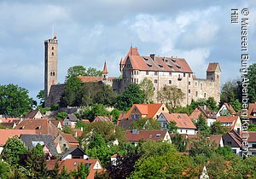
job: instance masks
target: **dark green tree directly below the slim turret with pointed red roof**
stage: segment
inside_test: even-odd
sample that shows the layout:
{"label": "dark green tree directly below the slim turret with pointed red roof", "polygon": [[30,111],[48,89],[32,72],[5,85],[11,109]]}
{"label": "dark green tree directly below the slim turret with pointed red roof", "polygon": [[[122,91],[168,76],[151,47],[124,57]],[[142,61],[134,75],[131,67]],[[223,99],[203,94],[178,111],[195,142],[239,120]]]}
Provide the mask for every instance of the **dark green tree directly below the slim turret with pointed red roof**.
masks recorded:
{"label": "dark green tree directly below the slim turret with pointed red roof", "polygon": [[102,84],[101,90],[96,92],[96,95],[93,96],[94,103],[102,104],[108,107],[113,106],[116,100],[116,94],[113,92],[113,89],[108,84]]}

